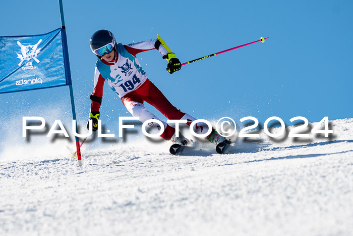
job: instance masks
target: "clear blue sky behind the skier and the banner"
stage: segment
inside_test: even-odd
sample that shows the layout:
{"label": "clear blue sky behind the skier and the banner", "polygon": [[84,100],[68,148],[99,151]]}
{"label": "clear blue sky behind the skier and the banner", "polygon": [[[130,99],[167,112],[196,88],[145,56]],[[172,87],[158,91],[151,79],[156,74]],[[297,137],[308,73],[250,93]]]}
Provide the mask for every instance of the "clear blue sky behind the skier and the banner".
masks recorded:
{"label": "clear blue sky behind the skier and the banner", "polygon": [[[235,51],[183,66],[172,75],[157,51],[138,54],[172,104],[194,117],[263,123],[278,116],[310,122],[351,118],[353,3],[351,1],[63,1],[78,122],[89,113],[96,57],[89,38],[112,31],[122,43],[159,33],[181,62],[269,37]],[[45,6],[45,7],[44,7]],[[3,1],[2,36],[49,32],[61,26],[58,1]],[[1,65],[2,67],[5,65]],[[68,87],[0,95],[2,120],[22,116],[72,119]],[[160,118],[162,116],[147,106]],[[50,109],[59,111],[52,117]],[[105,84],[103,122],[117,132],[129,116]]]}

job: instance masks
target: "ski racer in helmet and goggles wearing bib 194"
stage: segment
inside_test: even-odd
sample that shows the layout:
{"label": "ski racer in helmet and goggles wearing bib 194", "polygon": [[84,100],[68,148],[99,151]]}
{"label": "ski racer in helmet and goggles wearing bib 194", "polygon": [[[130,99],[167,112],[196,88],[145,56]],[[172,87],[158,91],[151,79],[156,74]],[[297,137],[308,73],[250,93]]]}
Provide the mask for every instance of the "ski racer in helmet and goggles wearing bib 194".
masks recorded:
{"label": "ski racer in helmet and goggles wearing bib 194", "polygon": [[[144,102],[155,107],[169,120],[187,120],[189,126],[196,120],[171,105],[163,93],[147,78],[146,72],[136,58],[138,53],[156,49],[163,55],[162,58],[168,61],[166,69],[170,74],[180,70],[182,66],[179,59],[174,53],[168,53],[158,39],[123,45],[121,42],[116,43],[110,31],[98,30],[91,36],[90,48],[98,58],[94,71],[94,89],[90,96],[89,120],[93,122],[93,131],[96,131],[98,126],[105,80],[108,81],[108,85],[116,92],[128,111],[134,117],[139,117],[141,122],[149,119],[159,120],[145,108]],[[173,127],[164,121],[161,122],[164,125],[164,132],[160,135],[162,138],[183,146],[189,143],[189,139],[181,133],[175,134]],[[160,130],[156,122],[151,122],[148,126],[153,133],[158,133]],[[87,128],[89,128],[89,123],[87,123]],[[198,122],[194,125],[194,131],[197,134],[205,134],[208,126],[203,122]],[[225,140],[214,129],[205,139],[216,145]]]}

